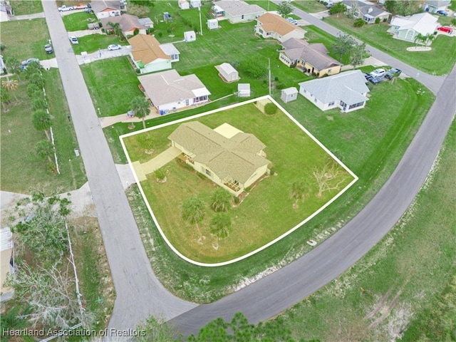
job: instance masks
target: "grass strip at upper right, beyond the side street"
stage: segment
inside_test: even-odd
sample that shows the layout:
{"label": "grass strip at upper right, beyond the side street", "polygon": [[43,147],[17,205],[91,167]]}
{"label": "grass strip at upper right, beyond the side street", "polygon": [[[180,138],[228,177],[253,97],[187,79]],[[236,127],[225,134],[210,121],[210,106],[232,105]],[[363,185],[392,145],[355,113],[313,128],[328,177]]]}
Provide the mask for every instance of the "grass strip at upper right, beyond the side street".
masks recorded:
{"label": "grass strip at upper right, beyond the side street", "polygon": [[353,27],[353,20],[347,19],[344,15],[339,18],[329,16],[325,21],[375,48],[388,51],[391,56],[426,73],[445,75],[450,73],[456,61],[456,54],[450,52],[456,50],[456,40],[449,36],[437,36],[432,42],[432,51],[410,52],[406,51],[406,48],[415,46],[415,43],[394,39],[390,33],[386,32],[390,27],[386,23],[356,28]]}

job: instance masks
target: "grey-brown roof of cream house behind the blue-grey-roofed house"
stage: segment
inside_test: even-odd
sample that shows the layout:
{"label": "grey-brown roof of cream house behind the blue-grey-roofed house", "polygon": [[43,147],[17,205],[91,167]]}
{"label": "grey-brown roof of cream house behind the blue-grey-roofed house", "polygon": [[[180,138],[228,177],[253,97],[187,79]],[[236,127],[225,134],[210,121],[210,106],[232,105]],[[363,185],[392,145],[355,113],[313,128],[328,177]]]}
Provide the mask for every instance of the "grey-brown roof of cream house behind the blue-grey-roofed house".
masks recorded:
{"label": "grey-brown roof of cream house behind the blue-grey-roofed house", "polygon": [[[289,42],[290,41],[290,42]],[[285,41],[282,46],[292,46],[292,48],[285,48],[283,52],[292,61],[302,58],[307,63],[314,66],[318,70],[329,68],[330,66],[341,66],[342,63],[336,59],[328,56],[328,49],[322,43],[309,44],[301,39],[291,38]],[[295,47],[293,47],[295,46]]]}

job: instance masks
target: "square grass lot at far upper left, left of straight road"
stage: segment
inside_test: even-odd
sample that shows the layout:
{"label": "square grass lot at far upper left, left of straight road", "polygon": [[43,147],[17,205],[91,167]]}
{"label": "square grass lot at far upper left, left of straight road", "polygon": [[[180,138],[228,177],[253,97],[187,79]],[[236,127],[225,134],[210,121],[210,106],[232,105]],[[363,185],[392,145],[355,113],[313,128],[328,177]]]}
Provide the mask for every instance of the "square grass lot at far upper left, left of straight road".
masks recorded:
{"label": "square grass lot at far upper left, left of straight road", "polygon": [[[25,3],[32,1],[24,1]],[[41,2],[38,1],[40,4]],[[33,32],[33,34],[30,34]],[[6,49],[4,58],[16,58],[23,61],[27,58],[49,59],[54,54],[46,54],[44,45],[48,43],[49,31],[45,19],[6,21],[1,23],[1,43]]]}

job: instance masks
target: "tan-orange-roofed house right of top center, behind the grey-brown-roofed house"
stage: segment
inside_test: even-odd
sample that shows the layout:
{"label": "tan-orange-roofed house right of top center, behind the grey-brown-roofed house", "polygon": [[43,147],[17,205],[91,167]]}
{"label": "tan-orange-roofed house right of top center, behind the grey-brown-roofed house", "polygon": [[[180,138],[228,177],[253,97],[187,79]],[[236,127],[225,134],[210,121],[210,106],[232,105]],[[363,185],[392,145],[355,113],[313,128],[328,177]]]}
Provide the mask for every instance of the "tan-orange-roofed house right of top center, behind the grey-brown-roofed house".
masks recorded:
{"label": "tan-orange-roofed house right of top center, behind the grey-brown-roofed house", "polygon": [[299,26],[291,24],[278,14],[265,13],[257,18],[255,33],[263,38],[274,38],[283,43],[290,38],[304,38],[306,31]]}

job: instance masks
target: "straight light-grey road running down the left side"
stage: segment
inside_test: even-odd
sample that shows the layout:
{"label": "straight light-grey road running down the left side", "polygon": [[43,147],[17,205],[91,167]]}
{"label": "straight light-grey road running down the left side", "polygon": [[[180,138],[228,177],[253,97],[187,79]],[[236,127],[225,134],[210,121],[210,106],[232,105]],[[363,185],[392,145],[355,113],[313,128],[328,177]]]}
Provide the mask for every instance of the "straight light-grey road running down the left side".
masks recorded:
{"label": "straight light-grey road running down the left side", "polygon": [[61,15],[54,1],[43,8],[117,294],[109,328],[134,328],[150,314],[172,318],[195,304],[170,294],[153,274]]}

